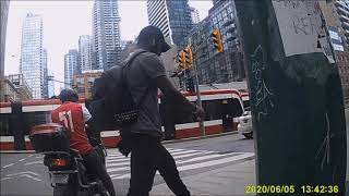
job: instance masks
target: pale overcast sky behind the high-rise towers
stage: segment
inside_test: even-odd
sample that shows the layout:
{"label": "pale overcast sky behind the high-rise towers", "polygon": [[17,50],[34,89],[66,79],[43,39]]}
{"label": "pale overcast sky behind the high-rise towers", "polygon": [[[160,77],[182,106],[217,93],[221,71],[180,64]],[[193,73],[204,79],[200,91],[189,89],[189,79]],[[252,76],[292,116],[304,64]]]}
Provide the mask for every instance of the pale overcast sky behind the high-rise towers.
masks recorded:
{"label": "pale overcast sky behind the high-rise towers", "polygon": [[[20,70],[22,24],[28,12],[40,14],[44,21],[44,48],[48,53],[48,70],[55,78],[64,81],[64,54],[77,49],[80,35],[92,35],[94,1],[11,1],[4,59],[4,74]],[[207,16],[210,0],[191,0],[201,20]],[[146,1],[119,1],[121,39],[133,40],[147,25]],[[60,84],[55,84],[56,91]]]}

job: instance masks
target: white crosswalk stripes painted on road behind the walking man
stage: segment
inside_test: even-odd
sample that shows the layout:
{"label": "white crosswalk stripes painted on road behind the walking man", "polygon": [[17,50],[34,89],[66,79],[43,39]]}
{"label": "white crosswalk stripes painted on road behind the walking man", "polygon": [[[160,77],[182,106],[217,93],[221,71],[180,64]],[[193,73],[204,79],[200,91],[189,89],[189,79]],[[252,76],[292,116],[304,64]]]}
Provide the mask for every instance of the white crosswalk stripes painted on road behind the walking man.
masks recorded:
{"label": "white crosswalk stripes painted on road behind the walking man", "polygon": [[[253,152],[219,154],[207,150],[189,150],[167,148],[176,160],[178,171],[189,171],[207,167],[215,167],[253,158]],[[107,157],[107,171],[112,180],[130,179],[130,156],[124,157],[120,152],[109,154]],[[156,174],[159,174],[156,172]]]}

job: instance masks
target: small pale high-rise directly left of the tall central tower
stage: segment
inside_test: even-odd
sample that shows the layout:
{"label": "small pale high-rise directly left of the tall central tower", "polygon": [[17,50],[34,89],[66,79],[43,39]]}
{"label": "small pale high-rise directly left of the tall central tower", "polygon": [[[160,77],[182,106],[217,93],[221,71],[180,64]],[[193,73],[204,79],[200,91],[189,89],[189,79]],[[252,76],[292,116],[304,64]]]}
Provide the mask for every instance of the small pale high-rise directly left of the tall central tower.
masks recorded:
{"label": "small pale high-rise directly left of the tall central tower", "polygon": [[80,70],[92,70],[92,41],[89,35],[82,35],[79,38]]}

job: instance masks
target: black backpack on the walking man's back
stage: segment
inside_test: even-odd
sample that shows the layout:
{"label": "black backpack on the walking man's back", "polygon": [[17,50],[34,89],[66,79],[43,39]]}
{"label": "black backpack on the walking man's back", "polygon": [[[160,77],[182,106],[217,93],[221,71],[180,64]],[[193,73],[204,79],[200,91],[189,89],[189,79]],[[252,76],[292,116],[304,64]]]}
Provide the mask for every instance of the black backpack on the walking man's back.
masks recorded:
{"label": "black backpack on the walking man's back", "polygon": [[[113,66],[103,72],[100,78],[95,79],[93,100],[89,103],[92,123],[97,131],[110,131],[130,125],[139,118],[139,106],[131,95],[125,79],[125,68],[145,50],[131,54],[121,66]],[[143,95],[143,99],[148,90]],[[141,99],[141,100],[143,100]]]}

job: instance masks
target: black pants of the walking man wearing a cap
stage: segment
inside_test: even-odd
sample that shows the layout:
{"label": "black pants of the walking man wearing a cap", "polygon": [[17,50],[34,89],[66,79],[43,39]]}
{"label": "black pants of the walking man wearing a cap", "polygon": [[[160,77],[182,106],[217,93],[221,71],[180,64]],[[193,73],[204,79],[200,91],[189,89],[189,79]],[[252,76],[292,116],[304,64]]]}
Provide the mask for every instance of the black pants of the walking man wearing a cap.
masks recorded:
{"label": "black pants of the walking man wearing a cap", "polygon": [[132,136],[131,180],[129,196],[147,196],[159,171],[168,187],[176,195],[190,195],[179,176],[173,157],[160,139],[145,134]]}

